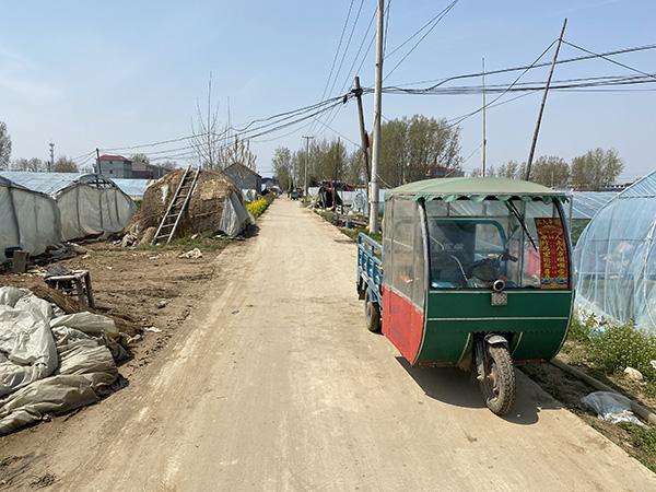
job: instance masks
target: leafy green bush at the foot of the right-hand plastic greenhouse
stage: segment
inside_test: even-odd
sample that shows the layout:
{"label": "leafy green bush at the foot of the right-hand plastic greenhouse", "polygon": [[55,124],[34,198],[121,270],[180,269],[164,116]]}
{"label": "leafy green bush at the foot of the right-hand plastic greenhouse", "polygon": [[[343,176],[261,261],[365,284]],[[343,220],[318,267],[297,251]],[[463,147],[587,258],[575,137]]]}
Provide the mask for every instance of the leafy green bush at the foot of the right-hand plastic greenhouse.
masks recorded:
{"label": "leafy green bush at the foot of the right-hand plastic greenhouse", "polygon": [[656,337],[633,325],[607,326],[589,333],[589,359],[608,373],[625,367],[639,370],[647,380],[656,380]]}

